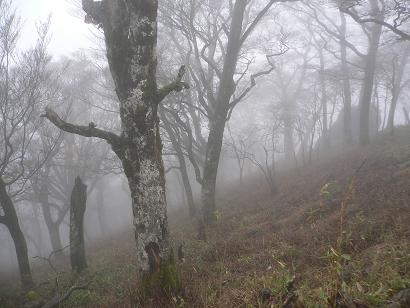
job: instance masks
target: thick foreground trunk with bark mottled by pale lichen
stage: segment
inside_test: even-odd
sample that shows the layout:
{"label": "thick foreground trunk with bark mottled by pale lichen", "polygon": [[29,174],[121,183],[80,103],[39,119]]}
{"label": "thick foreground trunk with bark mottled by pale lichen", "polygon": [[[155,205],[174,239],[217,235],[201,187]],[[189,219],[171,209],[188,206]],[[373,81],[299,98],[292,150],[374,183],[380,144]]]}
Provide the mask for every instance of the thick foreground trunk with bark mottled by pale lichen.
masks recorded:
{"label": "thick foreground trunk with bark mottled by pale lichen", "polygon": [[104,30],[108,62],[120,100],[123,143],[116,153],[131,191],[137,266],[141,274],[153,273],[169,256],[157,109],[172,87],[162,92],[157,89],[158,3],[111,0],[94,2],[95,7],[98,9],[86,12]]}

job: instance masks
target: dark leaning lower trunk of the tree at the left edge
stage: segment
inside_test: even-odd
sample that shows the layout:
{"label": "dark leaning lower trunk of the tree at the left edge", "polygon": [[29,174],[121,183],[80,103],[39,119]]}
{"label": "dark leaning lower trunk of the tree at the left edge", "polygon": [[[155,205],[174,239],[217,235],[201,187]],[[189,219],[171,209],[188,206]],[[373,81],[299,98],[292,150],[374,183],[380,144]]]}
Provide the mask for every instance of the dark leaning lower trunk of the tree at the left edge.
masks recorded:
{"label": "dark leaning lower trunk of the tree at the left edge", "polygon": [[21,231],[16,209],[13,201],[7,193],[6,184],[0,177],[0,205],[3,209],[4,215],[0,216],[0,223],[3,223],[10,232],[16,248],[17,262],[20,270],[20,279],[23,288],[31,288],[33,278],[31,276],[30,262],[28,260],[27,243],[24,234]]}

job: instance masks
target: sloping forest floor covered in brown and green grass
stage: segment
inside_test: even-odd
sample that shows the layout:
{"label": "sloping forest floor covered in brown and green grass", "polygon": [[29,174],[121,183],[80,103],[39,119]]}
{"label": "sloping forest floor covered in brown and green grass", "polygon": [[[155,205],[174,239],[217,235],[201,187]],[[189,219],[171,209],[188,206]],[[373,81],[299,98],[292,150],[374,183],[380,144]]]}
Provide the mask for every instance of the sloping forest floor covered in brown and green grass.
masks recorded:
{"label": "sloping forest floor covered in brown and green grass", "polygon": [[[278,182],[276,196],[259,177],[220,191],[219,218],[206,241],[197,239],[195,222],[171,213],[174,247],[183,243],[182,292],[145,306],[386,307],[410,288],[408,128],[282,172]],[[91,284],[61,307],[136,306],[132,232],[88,252]],[[52,297],[55,275],[48,275],[48,284],[25,297]],[[63,273],[59,288],[65,285]],[[0,294],[0,306],[21,299]]]}

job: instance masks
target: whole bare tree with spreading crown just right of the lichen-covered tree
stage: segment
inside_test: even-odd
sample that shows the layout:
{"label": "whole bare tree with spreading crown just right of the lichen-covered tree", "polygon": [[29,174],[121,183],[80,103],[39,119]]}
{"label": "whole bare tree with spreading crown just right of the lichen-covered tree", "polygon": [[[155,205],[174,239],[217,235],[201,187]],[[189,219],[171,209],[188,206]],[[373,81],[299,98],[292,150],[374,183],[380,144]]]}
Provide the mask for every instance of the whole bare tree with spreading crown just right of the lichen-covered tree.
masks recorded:
{"label": "whole bare tree with spreading crown just right of the lichen-covered tree", "polygon": [[[263,4],[246,0],[231,4],[173,1],[166,6],[164,18],[170,37],[182,50],[192,54],[190,77],[198,93],[199,108],[209,123],[201,183],[202,214],[207,224],[216,220],[216,179],[226,122],[255,87],[256,79],[274,69],[268,61],[266,69],[251,73],[253,61],[246,56],[246,43],[270,8],[280,2],[293,1],[271,0]],[[177,31],[185,43],[176,37]],[[268,55],[268,60],[272,56]]]}

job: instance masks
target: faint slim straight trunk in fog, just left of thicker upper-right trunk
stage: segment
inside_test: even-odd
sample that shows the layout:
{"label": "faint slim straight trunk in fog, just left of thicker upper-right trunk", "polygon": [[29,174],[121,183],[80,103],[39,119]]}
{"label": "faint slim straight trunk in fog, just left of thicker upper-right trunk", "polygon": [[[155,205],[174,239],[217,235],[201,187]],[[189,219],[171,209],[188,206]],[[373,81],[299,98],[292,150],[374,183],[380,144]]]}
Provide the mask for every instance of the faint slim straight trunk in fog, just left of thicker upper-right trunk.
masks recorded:
{"label": "faint slim straight trunk in fog, just left of thicker upper-right trunk", "polygon": [[[341,37],[346,39],[346,16],[343,12],[340,13],[341,19]],[[350,86],[350,72],[347,64],[347,47],[345,42],[340,42],[340,55],[343,76],[343,136],[345,144],[351,144],[352,136],[352,91]]]}

